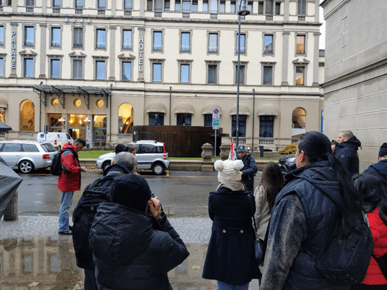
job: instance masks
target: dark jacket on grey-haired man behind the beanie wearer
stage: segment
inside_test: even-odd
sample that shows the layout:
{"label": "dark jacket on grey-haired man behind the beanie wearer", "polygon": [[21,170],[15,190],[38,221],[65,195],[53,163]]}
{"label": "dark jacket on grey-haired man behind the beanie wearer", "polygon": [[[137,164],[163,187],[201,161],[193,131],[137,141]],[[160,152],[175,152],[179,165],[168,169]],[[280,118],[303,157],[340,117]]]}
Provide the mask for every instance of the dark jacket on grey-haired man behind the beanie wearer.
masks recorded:
{"label": "dark jacket on grey-haired man behind the beanie wearer", "polygon": [[[85,189],[73,211],[73,245],[77,266],[94,270],[92,250],[89,248],[89,233],[96,210],[101,203],[109,202],[110,184],[117,175],[106,175],[95,180],[89,189]],[[107,183],[101,187],[98,184]]]}

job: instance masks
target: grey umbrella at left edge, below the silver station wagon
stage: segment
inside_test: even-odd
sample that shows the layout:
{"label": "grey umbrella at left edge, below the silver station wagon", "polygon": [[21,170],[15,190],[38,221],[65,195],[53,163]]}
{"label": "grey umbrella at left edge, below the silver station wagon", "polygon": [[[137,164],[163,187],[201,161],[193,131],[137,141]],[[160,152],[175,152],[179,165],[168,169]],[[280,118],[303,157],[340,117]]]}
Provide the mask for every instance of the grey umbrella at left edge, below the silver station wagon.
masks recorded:
{"label": "grey umbrella at left edge, below the silver station wagon", "polygon": [[0,158],[0,218],[23,179]]}

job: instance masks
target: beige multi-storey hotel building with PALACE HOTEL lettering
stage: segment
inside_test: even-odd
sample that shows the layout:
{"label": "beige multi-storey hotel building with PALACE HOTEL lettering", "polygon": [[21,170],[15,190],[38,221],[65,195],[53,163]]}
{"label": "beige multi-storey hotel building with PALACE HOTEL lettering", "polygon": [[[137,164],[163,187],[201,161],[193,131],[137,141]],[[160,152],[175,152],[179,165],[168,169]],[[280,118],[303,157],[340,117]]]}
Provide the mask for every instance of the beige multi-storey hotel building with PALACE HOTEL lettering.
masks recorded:
{"label": "beige multi-storey hotel building with PALACE HOTEL lettering", "polygon": [[[133,125],[212,126],[212,108],[235,136],[239,1],[0,3],[0,118],[13,128],[0,138],[48,126],[103,147]],[[277,151],[321,129],[319,0],[246,4],[240,143]]]}

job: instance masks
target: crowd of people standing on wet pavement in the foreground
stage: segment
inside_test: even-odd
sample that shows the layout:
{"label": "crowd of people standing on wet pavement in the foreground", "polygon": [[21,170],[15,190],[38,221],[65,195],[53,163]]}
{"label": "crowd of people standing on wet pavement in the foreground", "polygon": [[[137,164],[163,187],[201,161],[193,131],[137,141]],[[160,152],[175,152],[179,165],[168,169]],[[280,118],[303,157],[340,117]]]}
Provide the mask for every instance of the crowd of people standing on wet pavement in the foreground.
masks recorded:
{"label": "crowd of people standing on wet pavement in the foreground", "polygon": [[[136,173],[135,145],[115,147],[112,166],[86,187],[69,228],[68,208],[73,191],[80,190],[80,172],[86,170],[76,156],[84,141],[68,145],[73,153],[62,157],[65,170],[58,188],[59,234],[73,234],[85,290],[172,289],[167,273],[189,252],[159,198]],[[316,131],[305,133],[295,152],[297,168],[283,175],[277,163],[268,162],[255,188],[258,168],[244,145],[236,148],[237,159],[216,161],[219,185],[208,200],[212,233],[203,278],[217,280],[219,290],[247,290],[253,279],[260,290],[387,289],[379,266],[387,253],[387,143],[380,147],[378,162],[360,174],[358,147],[351,131],[339,133],[337,142]],[[105,202],[93,203],[95,211],[77,219],[78,208],[98,192]],[[86,224],[80,226],[80,220]],[[373,254],[363,265],[364,276],[349,284],[333,281],[321,272],[320,258],[335,237],[359,233],[359,222],[372,233]],[[264,240],[263,263],[255,259],[257,238]]]}

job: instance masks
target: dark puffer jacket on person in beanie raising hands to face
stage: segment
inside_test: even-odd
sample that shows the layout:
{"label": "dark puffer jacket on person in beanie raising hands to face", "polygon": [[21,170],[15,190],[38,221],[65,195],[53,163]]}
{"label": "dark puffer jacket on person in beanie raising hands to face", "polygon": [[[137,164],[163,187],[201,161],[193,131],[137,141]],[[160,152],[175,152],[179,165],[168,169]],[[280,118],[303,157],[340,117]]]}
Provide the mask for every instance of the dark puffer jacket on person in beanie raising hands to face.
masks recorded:
{"label": "dark puffer jacket on person in beanie raising hands to face", "polygon": [[189,255],[165,215],[117,203],[98,207],[89,242],[100,290],[170,290],[168,271]]}

